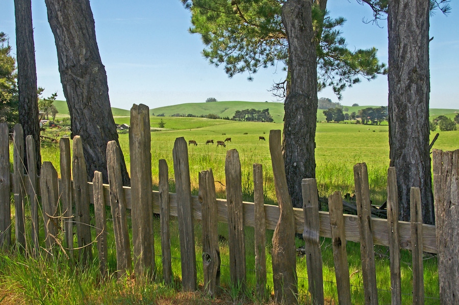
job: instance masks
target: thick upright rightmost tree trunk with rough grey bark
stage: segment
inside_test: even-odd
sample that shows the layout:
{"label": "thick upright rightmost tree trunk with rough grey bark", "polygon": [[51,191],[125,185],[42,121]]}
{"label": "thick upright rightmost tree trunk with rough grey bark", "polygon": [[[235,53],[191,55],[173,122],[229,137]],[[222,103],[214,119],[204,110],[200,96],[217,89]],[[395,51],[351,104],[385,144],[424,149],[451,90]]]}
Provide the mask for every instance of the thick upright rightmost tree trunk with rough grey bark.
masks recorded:
{"label": "thick upright rightmost tree trunk with rough grey bark", "polygon": [[388,7],[390,165],[397,172],[400,220],[410,219],[410,188],[421,189],[422,218],[434,222],[429,155],[429,0]]}

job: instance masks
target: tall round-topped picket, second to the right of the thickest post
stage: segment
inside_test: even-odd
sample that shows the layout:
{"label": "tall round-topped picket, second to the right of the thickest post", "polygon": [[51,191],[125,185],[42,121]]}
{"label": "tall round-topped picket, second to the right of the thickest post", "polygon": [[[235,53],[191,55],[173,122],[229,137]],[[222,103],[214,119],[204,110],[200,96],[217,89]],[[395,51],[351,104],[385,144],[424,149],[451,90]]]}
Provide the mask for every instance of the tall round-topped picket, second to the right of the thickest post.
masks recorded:
{"label": "tall round-topped picket, second to the right of the thickest post", "polygon": [[194,248],[193,209],[191,206],[190,167],[188,146],[183,137],[175,139],[172,149],[179,219],[180,255],[182,258],[182,285],[184,291],[196,290],[196,250]]}

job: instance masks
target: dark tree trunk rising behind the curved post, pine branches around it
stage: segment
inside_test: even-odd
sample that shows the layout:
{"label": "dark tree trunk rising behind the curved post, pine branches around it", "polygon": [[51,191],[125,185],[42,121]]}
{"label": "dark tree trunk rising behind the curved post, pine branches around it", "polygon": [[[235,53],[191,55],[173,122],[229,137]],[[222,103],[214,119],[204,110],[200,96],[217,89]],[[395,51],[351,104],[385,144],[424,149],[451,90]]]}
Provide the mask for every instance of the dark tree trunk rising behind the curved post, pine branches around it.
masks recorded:
{"label": "dark tree trunk rising behind the curved post, pine branches around it", "polygon": [[282,8],[289,43],[290,86],[285,100],[282,150],[293,207],[301,208],[301,180],[314,178],[317,61],[310,1],[288,0]]}

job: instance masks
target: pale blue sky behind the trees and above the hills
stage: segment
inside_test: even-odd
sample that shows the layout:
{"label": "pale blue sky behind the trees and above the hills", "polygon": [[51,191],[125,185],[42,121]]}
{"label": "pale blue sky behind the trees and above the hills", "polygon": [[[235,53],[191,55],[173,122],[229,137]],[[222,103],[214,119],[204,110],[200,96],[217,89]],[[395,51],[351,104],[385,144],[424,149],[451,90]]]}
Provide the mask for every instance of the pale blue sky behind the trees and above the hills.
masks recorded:
{"label": "pale blue sky behind the trees and above the hills", "polygon": [[[348,47],[378,48],[378,56],[387,63],[387,23],[379,26],[362,22],[372,17],[368,6],[356,0],[328,1],[331,16],[347,19],[342,28]],[[459,81],[459,6],[451,2],[445,16],[437,11],[430,18],[430,108],[459,109],[456,93]],[[276,101],[268,89],[273,81],[285,77],[282,66],[262,69],[229,79],[223,68],[209,65],[202,57],[200,36],[191,35],[190,13],[180,0],[101,1],[92,0],[97,43],[107,70],[112,107],[130,109],[133,104],[150,108],[182,103],[217,100]],[[49,28],[44,1],[32,1],[38,86],[44,96],[58,92],[65,99],[60,83],[53,34]],[[0,32],[10,37],[15,53],[14,5],[0,0]],[[343,105],[387,105],[387,77],[362,80],[348,88],[340,101]],[[330,89],[318,93],[338,101]]]}

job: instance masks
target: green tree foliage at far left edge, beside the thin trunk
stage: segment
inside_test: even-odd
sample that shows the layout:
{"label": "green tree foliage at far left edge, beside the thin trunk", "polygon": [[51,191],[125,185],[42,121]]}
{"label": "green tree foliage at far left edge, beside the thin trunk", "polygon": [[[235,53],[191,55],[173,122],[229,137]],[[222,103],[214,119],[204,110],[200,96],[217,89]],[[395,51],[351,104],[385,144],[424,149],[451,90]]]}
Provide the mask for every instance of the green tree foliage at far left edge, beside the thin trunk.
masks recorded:
{"label": "green tree foliage at far left edge, beside the thin trunk", "polygon": [[0,122],[10,128],[19,121],[16,59],[11,55],[8,36],[0,32]]}

